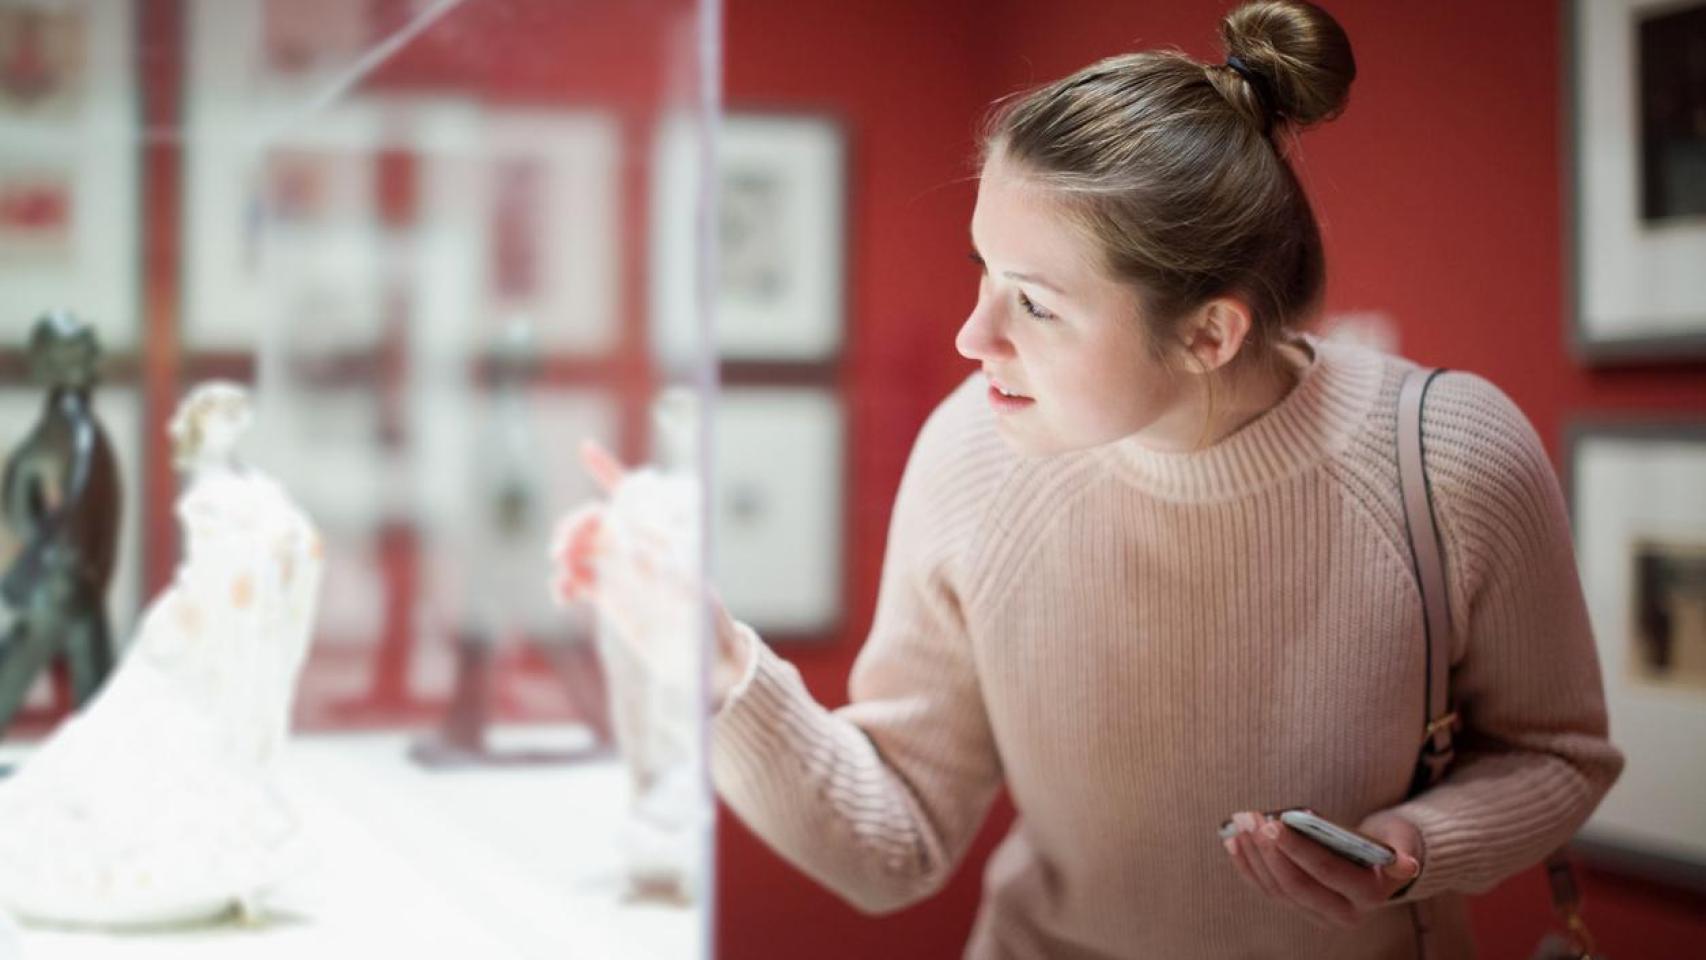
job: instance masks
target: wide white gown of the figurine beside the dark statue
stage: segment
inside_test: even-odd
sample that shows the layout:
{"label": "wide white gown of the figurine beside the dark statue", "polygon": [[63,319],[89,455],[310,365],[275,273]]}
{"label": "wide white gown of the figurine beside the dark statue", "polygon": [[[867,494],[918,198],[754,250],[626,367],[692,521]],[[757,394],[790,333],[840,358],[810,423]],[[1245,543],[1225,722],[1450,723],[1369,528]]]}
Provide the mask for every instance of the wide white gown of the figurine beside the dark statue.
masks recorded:
{"label": "wide white gown of the figurine beside the dark statue", "polygon": [[0,909],[19,919],[249,912],[300,859],[276,760],[312,631],[319,535],[229,452],[201,452],[193,469],[171,587],[101,694],[0,781]]}

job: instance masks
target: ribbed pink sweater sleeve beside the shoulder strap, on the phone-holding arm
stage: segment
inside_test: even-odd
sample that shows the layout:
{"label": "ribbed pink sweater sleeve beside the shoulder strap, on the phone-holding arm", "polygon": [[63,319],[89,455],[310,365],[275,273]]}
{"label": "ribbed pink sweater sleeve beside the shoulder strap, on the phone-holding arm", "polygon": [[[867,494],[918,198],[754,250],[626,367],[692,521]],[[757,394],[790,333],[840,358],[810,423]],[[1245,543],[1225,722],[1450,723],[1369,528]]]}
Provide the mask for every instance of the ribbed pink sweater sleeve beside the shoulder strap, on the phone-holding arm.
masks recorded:
{"label": "ribbed pink sweater sleeve beside the shoulder strap, on the phone-holding arm", "polygon": [[1496,387],[1452,373],[1430,392],[1425,443],[1464,726],[1452,771],[1397,807],[1423,839],[1404,900],[1481,892],[1544,859],[1622,769],[1564,498],[1534,428]]}

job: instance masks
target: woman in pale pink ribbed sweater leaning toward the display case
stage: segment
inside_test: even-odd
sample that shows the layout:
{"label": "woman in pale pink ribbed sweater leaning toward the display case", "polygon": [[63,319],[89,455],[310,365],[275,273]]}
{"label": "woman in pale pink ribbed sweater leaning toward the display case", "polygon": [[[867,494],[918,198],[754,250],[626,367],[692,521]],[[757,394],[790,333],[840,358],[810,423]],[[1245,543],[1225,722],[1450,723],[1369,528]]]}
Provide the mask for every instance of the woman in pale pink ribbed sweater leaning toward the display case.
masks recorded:
{"label": "woman in pale pink ribbed sweater leaning toward the display case", "polygon": [[[1559,846],[1621,769],[1546,454],[1448,373],[1423,437],[1464,730],[1407,796],[1413,365],[1297,333],[1324,264],[1285,147],[1355,61],[1307,3],[1245,3],[1221,36],[1225,63],[1117,56],[995,113],[957,338],[979,372],[906,467],[851,703],[720,631],[715,784],[855,905],[940,888],[1010,791],[967,957],[1467,957],[1462,895]],[[618,558],[577,542],[568,588],[604,602],[590,570]],[[1283,807],[1397,861],[1256,813]]]}

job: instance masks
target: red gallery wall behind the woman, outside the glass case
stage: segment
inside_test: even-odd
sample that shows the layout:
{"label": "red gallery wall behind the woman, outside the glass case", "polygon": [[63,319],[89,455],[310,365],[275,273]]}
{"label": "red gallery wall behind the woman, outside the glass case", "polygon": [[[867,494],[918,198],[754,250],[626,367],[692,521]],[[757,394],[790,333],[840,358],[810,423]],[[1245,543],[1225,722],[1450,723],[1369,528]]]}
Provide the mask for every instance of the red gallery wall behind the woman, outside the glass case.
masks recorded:
{"label": "red gallery wall behind the woman, outside the glass case", "polygon": [[[846,634],[785,650],[826,704],[868,626],[887,506],[913,433],[969,365],[952,333],[971,305],[960,177],[988,101],[1112,53],[1218,56],[1230,3],[805,3],[727,0],[730,109],[815,109],[851,143],[853,520]],[[1575,416],[1706,414],[1706,365],[1590,372],[1566,344],[1561,32],[1556,0],[1329,3],[1351,36],[1351,107],[1303,136],[1300,167],[1329,254],[1329,310],[1384,310],[1402,351],[1476,370],[1534,419],[1554,459]],[[981,859],[1005,812],[935,900],[865,919],[723,818],[720,957],[959,953]],[[1694,957],[1699,897],[1592,873],[1588,911],[1612,957]],[[1527,957],[1547,921],[1537,871],[1476,904],[1486,957]]]}

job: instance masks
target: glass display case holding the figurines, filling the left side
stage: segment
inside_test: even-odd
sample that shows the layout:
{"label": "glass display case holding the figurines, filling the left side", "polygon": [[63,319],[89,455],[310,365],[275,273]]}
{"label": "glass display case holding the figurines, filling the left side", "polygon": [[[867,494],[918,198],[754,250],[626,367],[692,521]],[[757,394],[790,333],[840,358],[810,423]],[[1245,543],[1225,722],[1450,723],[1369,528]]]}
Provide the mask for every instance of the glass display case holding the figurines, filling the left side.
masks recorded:
{"label": "glass display case holding the figurines, filling the left side", "polygon": [[[0,851],[53,878],[0,955],[710,955],[703,602],[624,674],[553,530],[592,440],[708,552],[717,51],[715,0],[0,0]],[[14,476],[44,315],[116,508]],[[26,578],[78,510],[92,696]]]}

